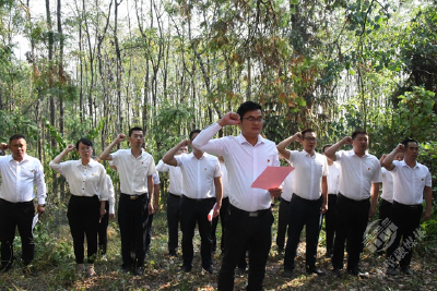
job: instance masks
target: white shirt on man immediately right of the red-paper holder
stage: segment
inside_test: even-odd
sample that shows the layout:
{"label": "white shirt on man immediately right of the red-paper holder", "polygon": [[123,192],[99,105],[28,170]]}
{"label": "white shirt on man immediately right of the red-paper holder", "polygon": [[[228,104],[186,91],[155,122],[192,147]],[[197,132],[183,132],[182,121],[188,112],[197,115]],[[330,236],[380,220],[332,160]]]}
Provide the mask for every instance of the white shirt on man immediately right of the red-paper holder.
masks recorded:
{"label": "white shirt on man immediately right of the red-paper holder", "polygon": [[290,161],[295,168],[293,174],[294,193],[305,199],[316,201],[321,196],[321,177],[328,175],[328,162],[323,155],[312,157],[305,149],[288,150]]}

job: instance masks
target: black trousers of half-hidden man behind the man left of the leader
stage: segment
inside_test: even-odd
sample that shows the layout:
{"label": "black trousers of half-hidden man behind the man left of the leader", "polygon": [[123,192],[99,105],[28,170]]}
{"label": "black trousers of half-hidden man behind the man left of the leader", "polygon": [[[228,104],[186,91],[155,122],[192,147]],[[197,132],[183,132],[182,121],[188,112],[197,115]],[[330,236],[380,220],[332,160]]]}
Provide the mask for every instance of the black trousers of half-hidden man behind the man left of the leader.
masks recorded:
{"label": "black trousers of half-hidden man behind the man left of the leader", "polygon": [[168,193],[167,196],[167,226],[168,252],[176,253],[178,247],[180,196]]}

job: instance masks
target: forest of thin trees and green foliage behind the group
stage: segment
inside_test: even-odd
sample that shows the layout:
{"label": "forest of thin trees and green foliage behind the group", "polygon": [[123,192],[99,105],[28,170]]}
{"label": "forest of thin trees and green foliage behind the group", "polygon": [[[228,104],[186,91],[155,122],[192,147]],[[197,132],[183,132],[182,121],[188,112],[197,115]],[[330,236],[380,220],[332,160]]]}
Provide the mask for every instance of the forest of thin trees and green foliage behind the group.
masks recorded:
{"label": "forest of thin trees and green foliage behind the group", "polygon": [[[437,1],[0,0],[0,141],[25,134],[42,160],[46,227],[64,216],[48,162],[67,144],[99,154],[140,125],[157,162],[245,100],[276,143],[312,128],[320,150],[363,129],[380,157],[416,138],[436,185]],[[423,228],[433,248],[435,213]]]}

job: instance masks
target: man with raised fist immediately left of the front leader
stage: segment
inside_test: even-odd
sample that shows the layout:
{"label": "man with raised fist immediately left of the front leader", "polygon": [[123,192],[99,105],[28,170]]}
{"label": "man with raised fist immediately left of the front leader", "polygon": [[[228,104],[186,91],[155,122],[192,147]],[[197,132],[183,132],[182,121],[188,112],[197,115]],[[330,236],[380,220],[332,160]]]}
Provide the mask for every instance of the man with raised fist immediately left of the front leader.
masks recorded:
{"label": "man with raised fist immediately left of the front leader", "polygon": [[[184,195],[180,201],[182,270],[191,271],[192,268],[192,238],[194,237],[196,223],[198,223],[202,267],[209,274],[213,274],[211,221],[208,220],[208,215],[214,208],[213,217],[216,217],[222,206],[222,171],[216,157],[203,153],[191,144],[199,133],[200,130],[191,131],[190,141],[182,141],[168,150],[164,155],[163,161],[174,167],[180,167],[182,172]],[[178,149],[188,144],[191,145],[192,153],[176,156]],[[215,207],[214,204],[216,204]]]}

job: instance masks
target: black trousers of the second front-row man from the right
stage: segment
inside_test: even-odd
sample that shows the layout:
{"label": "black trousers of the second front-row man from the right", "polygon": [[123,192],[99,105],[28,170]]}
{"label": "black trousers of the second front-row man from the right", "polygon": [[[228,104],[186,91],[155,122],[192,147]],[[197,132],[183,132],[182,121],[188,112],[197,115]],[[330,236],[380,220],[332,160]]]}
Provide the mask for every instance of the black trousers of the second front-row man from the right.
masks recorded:
{"label": "black trousers of the second front-row man from the right", "polygon": [[343,268],[344,243],[347,241],[347,269],[356,271],[363,252],[370,201],[354,201],[339,194],[335,209],[335,240],[332,266]]}

